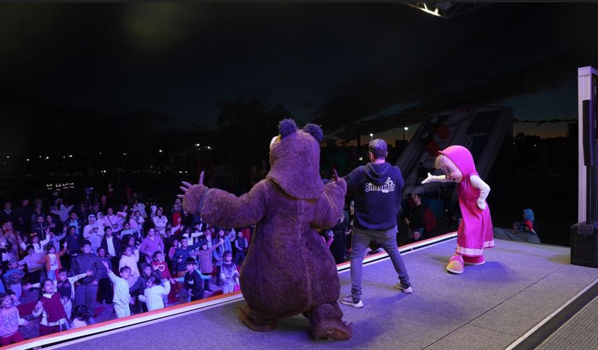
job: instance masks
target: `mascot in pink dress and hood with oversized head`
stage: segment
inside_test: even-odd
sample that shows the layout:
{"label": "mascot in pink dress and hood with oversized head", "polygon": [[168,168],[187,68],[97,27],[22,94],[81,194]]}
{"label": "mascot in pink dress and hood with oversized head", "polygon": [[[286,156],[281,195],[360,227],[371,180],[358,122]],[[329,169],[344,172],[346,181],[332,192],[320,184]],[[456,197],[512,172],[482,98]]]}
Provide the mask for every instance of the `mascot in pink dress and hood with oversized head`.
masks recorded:
{"label": "mascot in pink dress and hood with oversized head", "polygon": [[448,260],[446,270],[453,274],[462,274],[464,264],[485,263],[484,248],[494,247],[492,219],[486,203],[490,186],[478,176],[474,157],[465,147],[455,145],[439,151],[435,167],[442,169],[444,175],[435,176],[428,173],[428,178],[421,183],[457,183],[462,220],[457,230],[457,249],[455,255]]}

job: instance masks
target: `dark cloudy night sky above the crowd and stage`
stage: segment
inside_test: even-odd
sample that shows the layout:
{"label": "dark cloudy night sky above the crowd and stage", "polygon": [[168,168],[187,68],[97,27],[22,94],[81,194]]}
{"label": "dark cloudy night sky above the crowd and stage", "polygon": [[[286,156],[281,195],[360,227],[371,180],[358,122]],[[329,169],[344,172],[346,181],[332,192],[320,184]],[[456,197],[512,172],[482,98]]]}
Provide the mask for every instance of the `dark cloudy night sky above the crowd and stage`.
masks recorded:
{"label": "dark cloudy night sky above the crowd and stage", "polygon": [[0,3],[0,153],[193,142],[215,128],[218,101],[241,96],[281,103],[339,140],[362,122],[391,142],[400,136],[383,131],[460,106],[576,119],[577,68],[598,65],[597,13],[593,3],[494,3],[448,20],[400,3]]}

